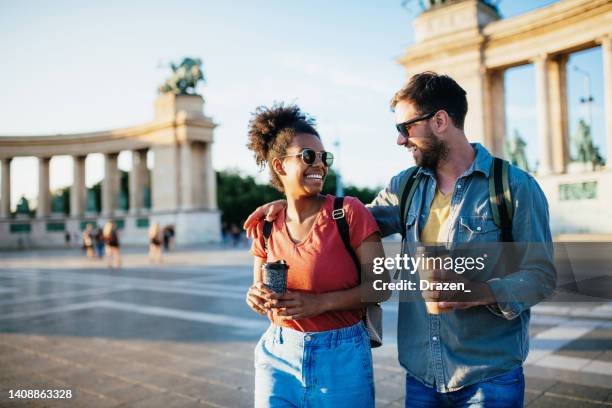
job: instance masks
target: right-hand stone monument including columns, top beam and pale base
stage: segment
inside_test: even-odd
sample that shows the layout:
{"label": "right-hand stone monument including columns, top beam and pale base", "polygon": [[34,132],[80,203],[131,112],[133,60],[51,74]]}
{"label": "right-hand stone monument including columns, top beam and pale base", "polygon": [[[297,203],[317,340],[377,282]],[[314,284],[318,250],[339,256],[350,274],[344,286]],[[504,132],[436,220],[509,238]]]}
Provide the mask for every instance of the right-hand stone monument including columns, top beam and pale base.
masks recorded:
{"label": "right-hand stone monument including columns, top beam and pale base", "polygon": [[[415,44],[398,62],[408,78],[422,71],[453,77],[466,90],[468,138],[503,156],[506,136],[504,72],[533,64],[539,168],[555,234],[612,233],[612,3],[561,0],[502,19],[483,0],[429,1],[415,19]],[[571,166],[567,61],[601,47],[606,118],[605,167]]]}

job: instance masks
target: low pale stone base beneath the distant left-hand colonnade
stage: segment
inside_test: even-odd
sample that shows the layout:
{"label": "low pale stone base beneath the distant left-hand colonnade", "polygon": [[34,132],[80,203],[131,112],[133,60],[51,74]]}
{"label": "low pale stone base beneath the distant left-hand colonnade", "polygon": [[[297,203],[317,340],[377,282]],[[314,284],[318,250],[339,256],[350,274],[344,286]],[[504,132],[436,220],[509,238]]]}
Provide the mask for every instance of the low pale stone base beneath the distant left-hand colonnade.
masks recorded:
{"label": "low pale stone base beneath the distant left-hand colonnade", "polygon": [[[122,214],[113,217],[88,215],[78,218],[18,218],[0,220],[0,249],[80,247],[87,224],[103,227],[112,220],[117,225],[121,245],[149,243],[149,226],[159,222],[161,228],[172,225],[178,247],[221,241],[219,211],[168,211]],[[66,244],[66,232],[70,241]]]}

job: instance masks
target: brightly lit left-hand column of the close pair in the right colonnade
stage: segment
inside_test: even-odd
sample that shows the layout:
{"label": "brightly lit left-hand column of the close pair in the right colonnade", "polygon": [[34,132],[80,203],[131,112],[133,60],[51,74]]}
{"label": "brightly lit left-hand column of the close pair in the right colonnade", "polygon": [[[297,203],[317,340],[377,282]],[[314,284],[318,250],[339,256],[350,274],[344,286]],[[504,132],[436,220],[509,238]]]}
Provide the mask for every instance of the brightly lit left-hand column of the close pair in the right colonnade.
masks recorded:
{"label": "brightly lit left-hand column of the close pair in the right colonnade", "polygon": [[551,137],[550,137],[550,103],[548,87],[548,55],[539,55],[534,59],[536,71],[536,95],[538,112],[539,159],[538,175],[552,173]]}

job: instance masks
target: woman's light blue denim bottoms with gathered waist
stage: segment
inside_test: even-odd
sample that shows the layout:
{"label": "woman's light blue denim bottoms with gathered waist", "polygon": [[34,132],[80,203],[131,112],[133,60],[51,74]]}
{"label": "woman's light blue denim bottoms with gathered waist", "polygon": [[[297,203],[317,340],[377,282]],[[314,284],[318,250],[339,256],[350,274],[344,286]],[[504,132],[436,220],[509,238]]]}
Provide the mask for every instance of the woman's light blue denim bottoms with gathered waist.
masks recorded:
{"label": "woman's light blue denim bottoms with gathered waist", "polygon": [[303,333],[271,325],[255,347],[255,407],[373,407],[363,323]]}

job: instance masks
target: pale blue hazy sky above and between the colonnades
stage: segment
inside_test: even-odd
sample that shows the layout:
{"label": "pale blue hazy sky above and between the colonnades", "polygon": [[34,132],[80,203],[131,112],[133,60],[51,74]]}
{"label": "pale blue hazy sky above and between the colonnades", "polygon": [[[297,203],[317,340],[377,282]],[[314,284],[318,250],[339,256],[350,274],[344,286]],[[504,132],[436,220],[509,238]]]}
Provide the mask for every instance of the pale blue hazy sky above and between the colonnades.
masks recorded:
{"label": "pale blue hazy sky above and between the colonnades", "polygon": [[[553,0],[503,0],[512,17]],[[246,149],[251,113],[277,101],[297,103],[317,119],[346,183],[377,187],[412,164],[395,145],[388,102],[406,80],[396,59],[414,42],[416,2],[380,1],[9,1],[0,0],[0,135],[79,133],[127,127],[153,118],[168,63],[204,61],[198,88],[215,129],[213,166],[258,174]],[[601,52],[572,56],[590,73],[595,141],[603,144]],[[508,132],[527,139],[537,157],[533,67],[506,73]],[[570,130],[584,109],[582,74],[570,77]],[[582,109],[582,111],[581,111]],[[583,115],[584,116],[584,115]],[[469,135],[468,135],[469,137]],[[334,142],[340,141],[340,147]],[[124,152],[119,166],[129,170]],[[86,184],[103,177],[90,155]],[[12,163],[12,204],[36,201],[36,159]],[[51,161],[51,189],[72,183],[67,156]]]}

